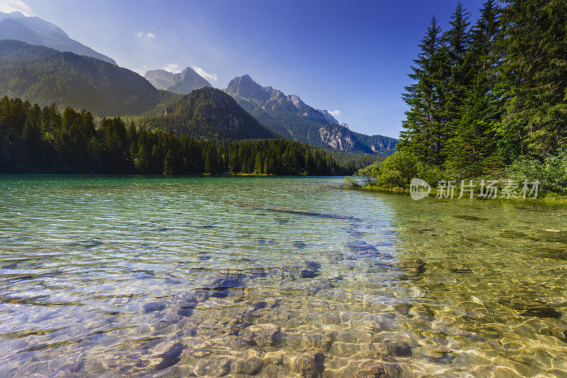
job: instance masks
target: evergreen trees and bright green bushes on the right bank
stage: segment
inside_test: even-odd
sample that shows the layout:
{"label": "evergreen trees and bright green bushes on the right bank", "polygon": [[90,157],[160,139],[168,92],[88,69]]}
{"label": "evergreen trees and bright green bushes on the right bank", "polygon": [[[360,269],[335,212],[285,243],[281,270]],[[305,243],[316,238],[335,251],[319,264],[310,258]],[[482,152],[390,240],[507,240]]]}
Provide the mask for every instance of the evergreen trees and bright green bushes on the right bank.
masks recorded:
{"label": "evergreen trees and bright green bushes on the right bank", "polygon": [[502,8],[488,0],[472,27],[459,3],[445,33],[433,18],[403,94],[410,109],[398,150],[409,155],[369,173],[382,186],[388,179],[403,187],[425,164],[446,178],[504,174],[564,192],[566,19],[567,3],[556,0],[508,0]]}

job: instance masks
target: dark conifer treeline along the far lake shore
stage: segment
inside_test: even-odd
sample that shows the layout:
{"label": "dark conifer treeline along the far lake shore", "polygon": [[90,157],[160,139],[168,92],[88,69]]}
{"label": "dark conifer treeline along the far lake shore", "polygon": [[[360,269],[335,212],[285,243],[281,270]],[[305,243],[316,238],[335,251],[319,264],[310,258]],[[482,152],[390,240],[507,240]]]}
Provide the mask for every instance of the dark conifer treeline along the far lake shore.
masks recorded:
{"label": "dark conifer treeline along the far lake shore", "polygon": [[148,132],[89,111],[0,100],[0,172],[142,174],[348,173],[328,153],[291,140],[196,139]]}

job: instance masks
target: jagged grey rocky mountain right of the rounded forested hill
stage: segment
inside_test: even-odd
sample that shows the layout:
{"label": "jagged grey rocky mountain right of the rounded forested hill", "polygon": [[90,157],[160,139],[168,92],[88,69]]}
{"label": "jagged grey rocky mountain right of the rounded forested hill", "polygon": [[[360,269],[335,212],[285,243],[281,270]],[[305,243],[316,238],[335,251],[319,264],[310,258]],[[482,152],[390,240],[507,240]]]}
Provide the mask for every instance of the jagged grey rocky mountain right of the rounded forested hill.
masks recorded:
{"label": "jagged grey rocky mountain right of the rounded forested hill", "polygon": [[339,125],[329,111],[314,109],[296,94],[262,87],[247,74],[232,79],[225,91],[266,128],[284,138],[344,152],[387,156],[395,151],[394,138],[355,133],[346,124]]}

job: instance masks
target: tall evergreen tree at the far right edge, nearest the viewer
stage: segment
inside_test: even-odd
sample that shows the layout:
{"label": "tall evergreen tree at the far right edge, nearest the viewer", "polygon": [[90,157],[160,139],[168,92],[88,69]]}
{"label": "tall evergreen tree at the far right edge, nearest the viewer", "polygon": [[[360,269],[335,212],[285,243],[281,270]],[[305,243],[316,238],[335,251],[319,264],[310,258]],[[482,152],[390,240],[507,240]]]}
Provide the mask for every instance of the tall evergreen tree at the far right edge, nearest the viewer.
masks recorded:
{"label": "tall evergreen tree at the far right edge, nearest the viewer", "polygon": [[[567,2],[507,0],[501,134],[518,135],[520,155],[546,157],[567,143]],[[512,156],[513,158],[513,156]]]}

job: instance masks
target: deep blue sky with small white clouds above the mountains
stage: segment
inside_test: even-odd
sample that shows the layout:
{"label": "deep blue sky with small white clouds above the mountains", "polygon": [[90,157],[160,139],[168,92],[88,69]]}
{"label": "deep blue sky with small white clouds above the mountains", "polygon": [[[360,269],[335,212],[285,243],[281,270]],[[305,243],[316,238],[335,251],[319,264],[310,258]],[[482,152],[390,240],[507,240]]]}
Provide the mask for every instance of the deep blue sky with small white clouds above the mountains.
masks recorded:
{"label": "deep blue sky with small white clouds above the mountains", "polygon": [[[462,1],[473,19],[482,1]],[[398,137],[400,94],[430,18],[454,0],[0,0],[143,74],[187,66],[218,88],[249,74],[367,134]],[[204,71],[204,72],[203,72]]]}

